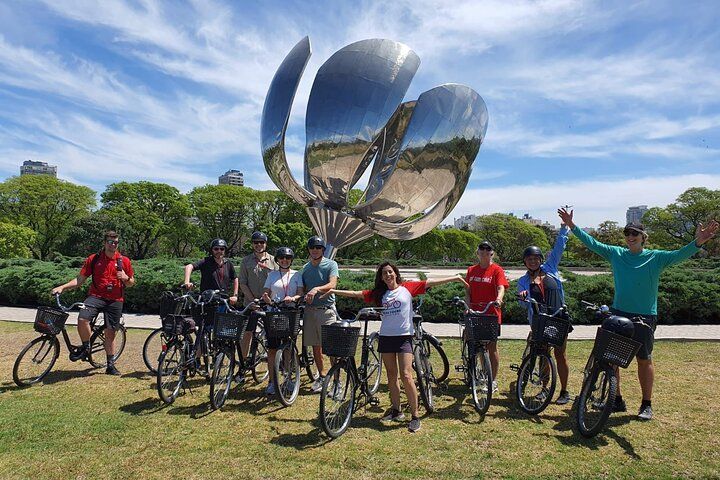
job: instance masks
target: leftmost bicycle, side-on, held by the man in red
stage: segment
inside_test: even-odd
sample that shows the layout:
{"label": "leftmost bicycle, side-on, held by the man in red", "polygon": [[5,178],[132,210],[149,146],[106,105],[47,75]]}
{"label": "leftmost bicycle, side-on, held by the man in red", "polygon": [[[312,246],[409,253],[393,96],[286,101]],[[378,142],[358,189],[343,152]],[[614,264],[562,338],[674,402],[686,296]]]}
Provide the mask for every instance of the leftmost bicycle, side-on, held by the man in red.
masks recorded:
{"label": "leftmost bicycle, side-on, held by the man in red", "polygon": [[[60,302],[60,294],[55,294],[58,308],[38,307],[33,328],[41,335],[30,341],[18,354],[13,365],[13,381],[20,387],[27,387],[42,381],[50,373],[60,356],[60,341],[57,336],[62,334],[65,346],[70,353],[78,352],[82,346],[73,345],[65,328],[68,312],[77,308],[85,308],[82,302],[69,307]],[[86,360],[95,368],[106,366],[105,362],[105,314],[98,322],[99,315],[90,320],[90,349]],[[126,329],[121,323],[115,331],[115,354],[113,361],[122,355],[125,349]],[[46,363],[47,362],[47,363]]]}

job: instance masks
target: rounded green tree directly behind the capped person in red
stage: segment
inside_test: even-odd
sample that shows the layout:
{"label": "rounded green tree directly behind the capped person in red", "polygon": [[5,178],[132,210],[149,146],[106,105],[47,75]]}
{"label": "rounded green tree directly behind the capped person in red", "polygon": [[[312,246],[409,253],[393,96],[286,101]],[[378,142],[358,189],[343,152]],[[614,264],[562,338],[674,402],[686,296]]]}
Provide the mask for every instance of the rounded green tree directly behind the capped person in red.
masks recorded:
{"label": "rounded green tree directly behind the capped person in red", "polygon": [[500,260],[504,261],[522,260],[522,252],[528,245],[537,245],[543,251],[550,249],[550,243],[540,228],[512,215],[493,213],[479,217],[475,222],[475,232],[481,241],[492,243]]}

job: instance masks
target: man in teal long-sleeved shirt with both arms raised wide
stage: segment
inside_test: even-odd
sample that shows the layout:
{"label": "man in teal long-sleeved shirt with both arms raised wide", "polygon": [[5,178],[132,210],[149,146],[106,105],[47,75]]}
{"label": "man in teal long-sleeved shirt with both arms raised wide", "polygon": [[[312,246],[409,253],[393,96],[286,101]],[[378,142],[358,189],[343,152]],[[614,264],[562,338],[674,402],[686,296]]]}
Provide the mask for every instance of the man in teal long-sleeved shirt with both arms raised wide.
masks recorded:
{"label": "man in teal long-sleeved shirt with both arms raised wide", "polygon": [[[635,329],[635,340],[642,346],[637,354],[638,379],[642,390],[642,404],[638,418],[652,419],[652,388],[655,380],[655,367],[652,363],[652,350],[655,327],[657,326],[657,295],[660,274],[671,265],[680,263],[700,251],[700,246],[710,240],[717,233],[718,222],[711,221],[707,227],[700,225],[695,240],[679,250],[646,250],[645,241],[648,238],[645,228],[637,223],[625,226],[625,242],[627,248],[606,245],[580,230],[573,222],[573,211],[568,212],[561,208],[558,210],[562,222],[572,229],[575,236],[592,252],[597,253],[610,262],[615,283],[615,297],[612,310],[616,315],[623,317],[645,318],[645,322],[652,326]],[[620,395],[620,372],[618,371],[618,390],[615,398],[615,411],[626,411],[625,401]]]}

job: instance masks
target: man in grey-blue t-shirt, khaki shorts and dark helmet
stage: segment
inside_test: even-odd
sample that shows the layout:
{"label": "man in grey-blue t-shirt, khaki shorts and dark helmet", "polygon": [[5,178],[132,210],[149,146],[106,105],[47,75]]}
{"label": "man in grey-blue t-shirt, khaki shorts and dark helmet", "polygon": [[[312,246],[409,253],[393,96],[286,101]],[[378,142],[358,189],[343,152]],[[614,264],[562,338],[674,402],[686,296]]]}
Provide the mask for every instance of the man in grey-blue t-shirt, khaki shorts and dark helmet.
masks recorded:
{"label": "man in grey-blue t-shirt, khaki shorts and dark helmet", "polygon": [[320,376],[312,384],[312,391],[322,390],[323,377],[327,373],[322,358],[322,325],[335,322],[335,294],[322,295],[337,287],[338,265],[335,260],[324,256],[325,241],[318,236],[310,237],[307,243],[310,261],[303,266],[301,275],[305,285],[305,313],[303,316],[303,343],[313,347],[313,356]]}

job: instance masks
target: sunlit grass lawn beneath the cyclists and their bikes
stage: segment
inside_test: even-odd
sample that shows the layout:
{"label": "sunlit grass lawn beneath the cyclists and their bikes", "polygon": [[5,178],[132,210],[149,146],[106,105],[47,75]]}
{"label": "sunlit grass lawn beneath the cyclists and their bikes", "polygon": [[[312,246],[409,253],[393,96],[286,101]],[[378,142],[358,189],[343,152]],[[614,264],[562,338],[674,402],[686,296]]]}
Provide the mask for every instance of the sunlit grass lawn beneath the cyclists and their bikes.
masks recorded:
{"label": "sunlit grass lawn beneath the cyclists and their bikes", "polygon": [[[75,332],[72,332],[75,338]],[[42,385],[18,389],[12,366],[34,337],[29,324],[0,322],[0,478],[404,478],[404,477],[718,477],[720,343],[658,342],[654,410],[634,419],[640,404],[635,364],[624,371],[629,412],[610,417],[609,428],[586,440],[574,433],[570,405],[551,405],[528,417],[509,385],[523,342],[501,343],[500,392],[484,420],[469,390],[451,372],[436,412],[411,434],[405,424],[382,425],[389,406],[361,409],[348,432],[329,441],[317,422],[318,396],[306,382],[290,408],[262,395],[263,386],[231,394],[213,412],[209,388],[171,406],[158,399],[141,359],[147,331],[131,331],[109,377],[61,356]],[[62,344],[62,342],[61,342]],[[459,343],[446,341],[451,365]],[[571,342],[570,390],[577,393],[591,342]]]}

